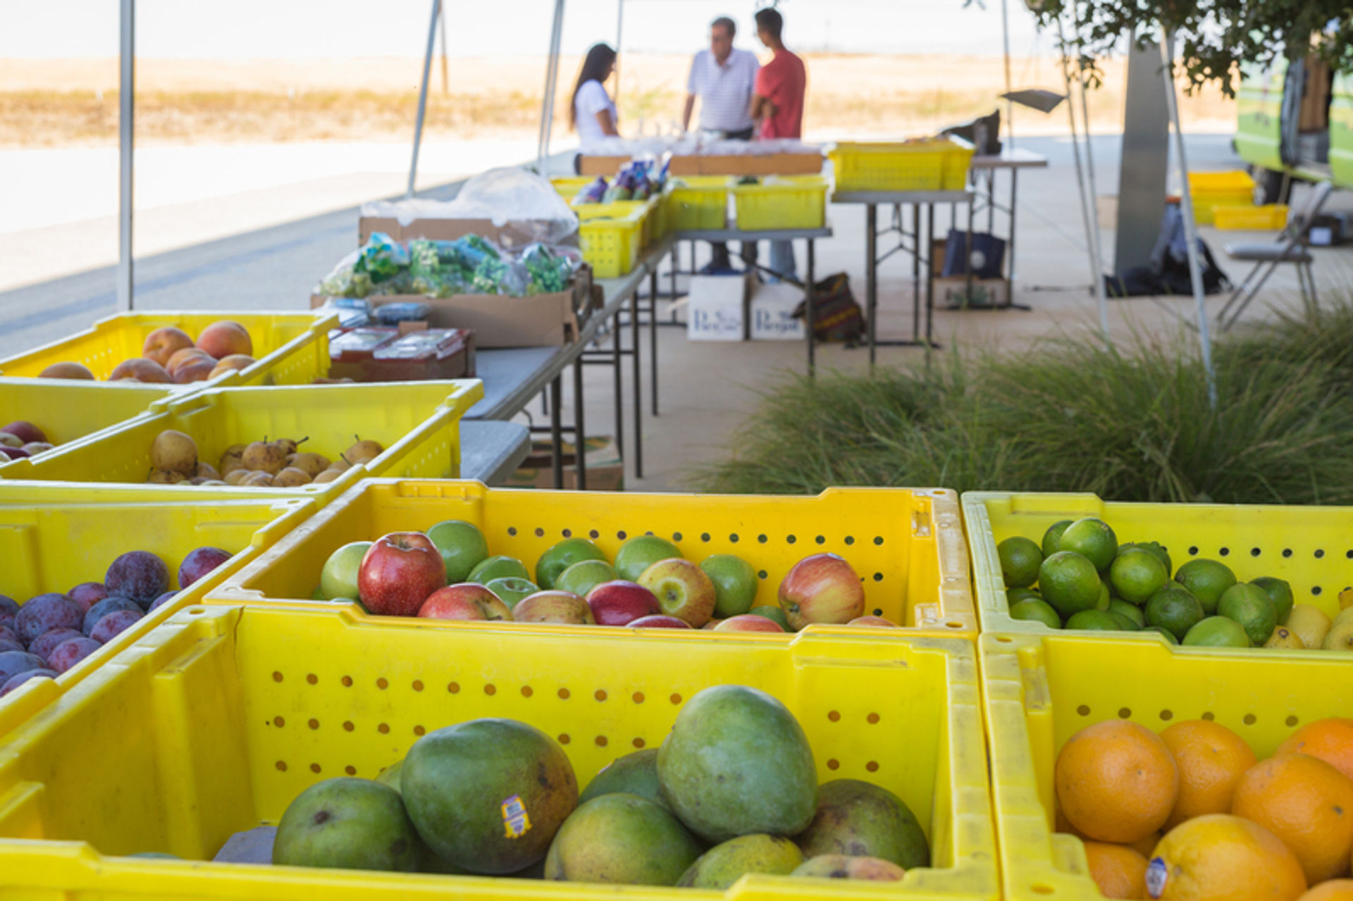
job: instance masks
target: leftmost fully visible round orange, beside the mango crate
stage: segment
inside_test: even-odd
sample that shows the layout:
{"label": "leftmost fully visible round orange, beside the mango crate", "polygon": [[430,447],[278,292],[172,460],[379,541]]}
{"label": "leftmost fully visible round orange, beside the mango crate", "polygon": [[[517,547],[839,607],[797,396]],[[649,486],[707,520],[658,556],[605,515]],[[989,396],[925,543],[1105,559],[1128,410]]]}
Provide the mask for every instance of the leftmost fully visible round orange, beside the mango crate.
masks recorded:
{"label": "leftmost fully visible round orange, beside the mango crate", "polygon": [[1066,740],[1053,782],[1076,829],[1096,841],[1132,844],[1165,824],[1180,775],[1158,735],[1137,722],[1108,720]]}

